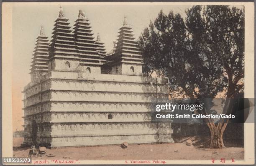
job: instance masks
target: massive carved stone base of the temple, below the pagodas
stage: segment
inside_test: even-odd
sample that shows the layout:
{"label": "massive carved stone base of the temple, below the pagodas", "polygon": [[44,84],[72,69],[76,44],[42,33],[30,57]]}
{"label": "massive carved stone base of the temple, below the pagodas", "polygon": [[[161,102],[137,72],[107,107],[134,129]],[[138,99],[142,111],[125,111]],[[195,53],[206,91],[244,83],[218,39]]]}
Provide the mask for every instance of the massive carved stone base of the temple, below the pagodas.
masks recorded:
{"label": "massive carved stone base of the temple, below the pagodas", "polygon": [[[168,79],[50,72],[24,89],[24,144],[49,147],[172,142],[170,123],[151,123]],[[36,129],[35,129],[36,127]]]}

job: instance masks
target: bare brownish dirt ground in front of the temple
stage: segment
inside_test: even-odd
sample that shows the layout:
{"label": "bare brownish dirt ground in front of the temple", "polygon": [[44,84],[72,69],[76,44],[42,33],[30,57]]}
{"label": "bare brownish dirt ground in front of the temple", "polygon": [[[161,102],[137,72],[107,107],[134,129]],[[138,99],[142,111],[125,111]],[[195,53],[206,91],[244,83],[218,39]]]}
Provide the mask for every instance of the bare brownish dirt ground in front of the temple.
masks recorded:
{"label": "bare brownish dirt ground in front of the temple", "polygon": [[[13,138],[13,156],[27,157],[29,148],[18,147],[23,138]],[[47,157],[54,154],[54,157]],[[202,149],[187,146],[184,143],[129,145],[127,149],[120,146],[67,147],[47,149],[46,154],[32,156],[32,159],[72,159],[72,160],[226,160],[244,159],[244,148],[229,147],[225,149]]]}

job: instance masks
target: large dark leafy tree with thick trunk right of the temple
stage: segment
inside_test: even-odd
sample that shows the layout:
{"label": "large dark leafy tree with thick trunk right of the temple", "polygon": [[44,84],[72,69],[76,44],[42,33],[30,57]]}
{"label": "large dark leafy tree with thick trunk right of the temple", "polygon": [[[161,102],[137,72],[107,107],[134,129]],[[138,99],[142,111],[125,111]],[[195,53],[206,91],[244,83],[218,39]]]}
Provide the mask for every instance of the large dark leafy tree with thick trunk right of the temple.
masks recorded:
{"label": "large dark leafy tree with thick trunk right of the temple", "polygon": [[[139,37],[146,67],[169,77],[172,90],[182,90],[191,99],[215,98],[225,92],[227,99],[243,91],[244,12],[229,6],[193,6],[185,20],[163,11]],[[229,100],[227,100],[229,101]],[[223,112],[230,113],[230,102]],[[207,111],[199,112],[207,114]],[[207,120],[212,148],[225,147],[223,132],[227,121]]]}

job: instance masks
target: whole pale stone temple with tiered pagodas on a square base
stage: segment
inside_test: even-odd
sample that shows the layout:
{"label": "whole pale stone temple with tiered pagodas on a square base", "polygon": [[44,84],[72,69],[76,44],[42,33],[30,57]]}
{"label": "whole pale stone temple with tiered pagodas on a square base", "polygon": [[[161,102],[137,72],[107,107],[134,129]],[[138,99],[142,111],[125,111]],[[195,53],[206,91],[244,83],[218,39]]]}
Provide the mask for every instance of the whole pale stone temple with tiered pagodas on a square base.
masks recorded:
{"label": "whole pale stone temple with tiered pagodas on a square base", "polygon": [[73,27],[62,7],[50,42],[41,27],[23,91],[23,145],[173,142],[170,123],[151,123],[153,101],[168,99],[168,79],[142,76],[127,18],[109,53],[82,10]]}

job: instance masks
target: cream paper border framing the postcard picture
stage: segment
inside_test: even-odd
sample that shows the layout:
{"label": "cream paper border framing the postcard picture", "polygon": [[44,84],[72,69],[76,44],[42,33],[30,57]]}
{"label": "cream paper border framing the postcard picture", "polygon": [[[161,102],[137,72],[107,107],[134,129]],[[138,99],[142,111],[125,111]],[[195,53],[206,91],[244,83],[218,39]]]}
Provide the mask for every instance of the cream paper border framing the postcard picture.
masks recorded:
{"label": "cream paper border framing the postcard picture", "polygon": [[[3,2],[2,3],[2,156],[13,156],[12,72],[13,37],[12,10],[14,3],[40,5],[244,5],[245,7],[245,98],[254,98],[254,2]],[[20,92],[21,93],[21,92]],[[233,164],[254,164],[254,124],[245,124],[245,160]],[[80,160],[80,164],[125,164],[117,160]],[[166,164],[212,164],[210,160],[166,160]],[[230,163],[223,163],[230,164]],[[231,163],[232,164],[232,163]]]}

